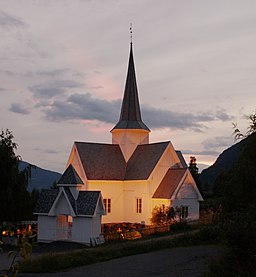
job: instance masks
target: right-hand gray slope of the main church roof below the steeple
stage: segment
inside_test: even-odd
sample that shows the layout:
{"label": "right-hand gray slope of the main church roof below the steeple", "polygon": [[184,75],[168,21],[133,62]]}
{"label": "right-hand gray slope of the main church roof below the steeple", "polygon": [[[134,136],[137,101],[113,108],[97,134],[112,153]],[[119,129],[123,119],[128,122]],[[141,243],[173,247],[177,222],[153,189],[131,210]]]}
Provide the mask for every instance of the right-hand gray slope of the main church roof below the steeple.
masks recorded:
{"label": "right-hand gray slope of the main church roof below the steeple", "polygon": [[127,163],[125,180],[147,180],[169,143],[138,145]]}

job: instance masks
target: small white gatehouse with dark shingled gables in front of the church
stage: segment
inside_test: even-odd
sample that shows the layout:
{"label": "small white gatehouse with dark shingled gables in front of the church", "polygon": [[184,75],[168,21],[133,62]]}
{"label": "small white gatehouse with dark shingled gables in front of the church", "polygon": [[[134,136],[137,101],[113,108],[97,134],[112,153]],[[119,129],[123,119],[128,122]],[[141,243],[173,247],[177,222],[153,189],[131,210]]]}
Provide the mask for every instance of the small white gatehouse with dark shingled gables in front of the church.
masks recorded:
{"label": "small white gatehouse with dark shingled gables in front of the church", "polygon": [[82,244],[104,242],[101,218],[105,214],[100,191],[82,191],[82,180],[70,165],[56,189],[43,190],[37,203],[38,242],[57,240]]}

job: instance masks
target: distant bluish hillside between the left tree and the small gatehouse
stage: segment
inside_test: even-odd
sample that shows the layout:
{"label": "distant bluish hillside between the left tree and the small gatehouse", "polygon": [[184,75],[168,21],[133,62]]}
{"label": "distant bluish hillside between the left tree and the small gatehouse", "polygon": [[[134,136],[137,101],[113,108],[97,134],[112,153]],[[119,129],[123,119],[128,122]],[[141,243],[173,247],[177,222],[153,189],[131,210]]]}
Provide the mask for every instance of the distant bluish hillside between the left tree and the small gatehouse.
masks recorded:
{"label": "distant bluish hillside between the left tree and the small gatehouse", "polygon": [[[23,170],[29,163],[25,161],[20,161],[19,169]],[[31,172],[31,182],[28,185],[28,191],[32,191],[34,188],[41,190],[47,189],[53,185],[54,182],[57,182],[61,177],[61,174],[58,172],[46,170],[35,166],[32,168]]]}

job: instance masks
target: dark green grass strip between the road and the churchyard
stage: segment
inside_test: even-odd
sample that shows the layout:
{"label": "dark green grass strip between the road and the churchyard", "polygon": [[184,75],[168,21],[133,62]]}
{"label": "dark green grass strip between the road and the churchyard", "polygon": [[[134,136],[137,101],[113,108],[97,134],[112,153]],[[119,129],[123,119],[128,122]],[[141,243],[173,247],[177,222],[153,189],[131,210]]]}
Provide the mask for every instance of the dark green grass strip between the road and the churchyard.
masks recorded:
{"label": "dark green grass strip between the road and the churchyard", "polygon": [[212,243],[212,238],[204,234],[203,239],[197,233],[182,233],[179,237],[158,237],[136,241],[106,243],[94,248],[85,248],[62,254],[46,254],[24,261],[22,272],[58,272],[92,263],[108,261],[129,255],[152,252],[165,248],[191,246]]}

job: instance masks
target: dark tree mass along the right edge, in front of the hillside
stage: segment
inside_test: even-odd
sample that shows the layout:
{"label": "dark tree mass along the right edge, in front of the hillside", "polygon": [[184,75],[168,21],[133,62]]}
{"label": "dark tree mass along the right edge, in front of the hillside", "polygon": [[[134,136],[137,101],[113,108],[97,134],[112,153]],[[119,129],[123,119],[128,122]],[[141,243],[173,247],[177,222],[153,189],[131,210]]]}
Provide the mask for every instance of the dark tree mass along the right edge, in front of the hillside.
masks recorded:
{"label": "dark tree mass along the right edge, in front of the hillside", "polygon": [[[243,140],[238,161],[214,185],[223,208],[225,241],[235,256],[235,270],[256,274],[256,133]],[[253,273],[253,274],[252,274]]]}

